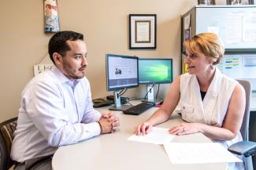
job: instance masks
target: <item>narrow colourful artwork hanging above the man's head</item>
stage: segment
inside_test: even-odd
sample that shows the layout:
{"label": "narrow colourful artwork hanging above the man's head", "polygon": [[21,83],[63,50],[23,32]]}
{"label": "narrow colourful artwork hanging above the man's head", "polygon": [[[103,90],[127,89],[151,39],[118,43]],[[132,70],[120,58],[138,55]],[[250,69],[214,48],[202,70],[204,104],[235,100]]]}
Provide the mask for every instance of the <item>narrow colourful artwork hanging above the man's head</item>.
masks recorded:
{"label": "narrow colourful artwork hanging above the man's head", "polygon": [[43,0],[44,32],[60,31],[57,0]]}

